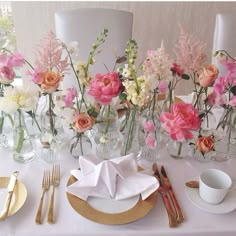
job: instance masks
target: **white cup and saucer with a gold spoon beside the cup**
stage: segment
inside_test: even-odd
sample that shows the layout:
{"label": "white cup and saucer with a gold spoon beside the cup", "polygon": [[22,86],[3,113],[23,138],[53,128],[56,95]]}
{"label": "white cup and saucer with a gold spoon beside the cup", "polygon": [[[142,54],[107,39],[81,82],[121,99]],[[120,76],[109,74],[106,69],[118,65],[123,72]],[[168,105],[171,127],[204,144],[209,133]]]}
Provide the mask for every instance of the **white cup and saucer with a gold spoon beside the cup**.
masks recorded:
{"label": "white cup and saucer with a gold spoon beside the cup", "polygon": [[231,177],[218,169],[207,169],[186,182],[189,200],[203,211],[225,214],[236,209],[236,186]]}

